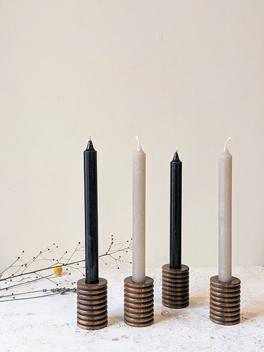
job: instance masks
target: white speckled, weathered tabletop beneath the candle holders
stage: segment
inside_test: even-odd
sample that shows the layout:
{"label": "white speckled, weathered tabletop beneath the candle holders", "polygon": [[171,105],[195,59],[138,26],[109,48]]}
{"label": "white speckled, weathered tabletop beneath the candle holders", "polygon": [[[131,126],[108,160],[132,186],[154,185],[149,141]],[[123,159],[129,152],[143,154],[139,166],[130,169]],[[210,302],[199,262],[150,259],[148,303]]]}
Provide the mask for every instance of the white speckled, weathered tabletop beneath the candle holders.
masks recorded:
{"label": "white speckled, weathered tabletop beneath the candle holders", "polygon": [[[183,309],[161,304],[161,268],[148,269],[146,274],[154,278],[153,325],[133,328],[124,323],[123,280],[131,269],[104,269],[100,276],[108,281],[106,328],[86,331],[77,326],[73,293],[0,302],[0,352],[263,351],[263,267],[233,268],[233,276],[241,280],[241,322],[234,326],[209,319],[210,277],[217,275],[217,268],[190,268],[190,304]],[[24,289],[51,287],[43,281]]]}

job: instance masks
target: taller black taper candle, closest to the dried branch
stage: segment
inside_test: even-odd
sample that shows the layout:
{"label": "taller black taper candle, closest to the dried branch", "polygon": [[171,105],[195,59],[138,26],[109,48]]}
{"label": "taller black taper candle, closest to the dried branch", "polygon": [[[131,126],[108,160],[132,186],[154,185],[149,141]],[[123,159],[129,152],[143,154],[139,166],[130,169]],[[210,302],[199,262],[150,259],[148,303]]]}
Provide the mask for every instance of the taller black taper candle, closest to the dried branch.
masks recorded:
{"label": "taller black taper candle, closest to the dried branch", "polygon": [[99,282],[98,269],[98,200],[97,151],[89,139],[84,158],[84,208],[85,208],[85,282]]}

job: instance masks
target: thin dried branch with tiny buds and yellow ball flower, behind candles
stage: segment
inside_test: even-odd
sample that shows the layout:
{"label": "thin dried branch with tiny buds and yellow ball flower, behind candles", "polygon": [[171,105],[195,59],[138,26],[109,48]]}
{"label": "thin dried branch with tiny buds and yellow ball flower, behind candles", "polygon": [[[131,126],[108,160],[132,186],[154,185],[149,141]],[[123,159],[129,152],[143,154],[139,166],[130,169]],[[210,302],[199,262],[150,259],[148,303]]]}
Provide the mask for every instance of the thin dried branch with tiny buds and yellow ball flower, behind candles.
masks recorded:
{"label": "thin dried branch with tiny buds and yellow ball flower, behind candles", "polygon": [[[77,258],[78,255],[83,257],[84,245],[81,245],[79,242],[70,255],[67,251],[65,251],[58,259],[55,259],[53,254],[57,248],[58,246],[53,243],[52,246],[47,247],[44,251],[40,251],[29,261],[24,260],[24,251],[22,251],[20,256],[18,256],[11,265],[0,273],[0,298],[10,296],[7,295],[7,291],[10,292],[11,289],[17,289],[22,285],[37,282],[43,279],[49,280],[56,286],[65,285],[66,283],[71,283],[71,285],[74,285],[76,282],[71,282],[71,280],[69,280],[72,272],[79,271],[82,276],[85,276],[85,260]],[[103,260],[106,265],[107,257],[113,259],[119,269],[120,264],[126,265],[127,263],[131,263],[130,261],[124,259],[122,255],[131,249],[132,240],[127,241],[124,240],[124,238],[121,238],[121,240],[118,241],[111,236],[108,250],[99,255],[99,258]],[[43,261],[47,262],[48,265],[37,269],[36,266],[42,264]],[[62,271],[63,269],[64,271]],[[10,271],[12,272],[11,275],[9,274]],[[18,293],[16,295],[18,295]],[[14,296],[14,293],[12,293],[11,296]],[[3,301],[1,300],[1,302]]]}

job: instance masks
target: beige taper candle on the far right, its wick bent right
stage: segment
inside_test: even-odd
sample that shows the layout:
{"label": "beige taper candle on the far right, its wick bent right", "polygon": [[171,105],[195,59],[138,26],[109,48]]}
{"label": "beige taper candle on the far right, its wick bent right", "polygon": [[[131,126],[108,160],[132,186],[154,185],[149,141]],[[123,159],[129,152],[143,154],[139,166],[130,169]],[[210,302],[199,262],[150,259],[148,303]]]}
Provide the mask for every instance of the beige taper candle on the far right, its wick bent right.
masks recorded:
{"label": "beige taper candle on the far right, its wick bent right", "polygon": [[232,280],[232,155],[227,142],[218,169],[218,279]]}

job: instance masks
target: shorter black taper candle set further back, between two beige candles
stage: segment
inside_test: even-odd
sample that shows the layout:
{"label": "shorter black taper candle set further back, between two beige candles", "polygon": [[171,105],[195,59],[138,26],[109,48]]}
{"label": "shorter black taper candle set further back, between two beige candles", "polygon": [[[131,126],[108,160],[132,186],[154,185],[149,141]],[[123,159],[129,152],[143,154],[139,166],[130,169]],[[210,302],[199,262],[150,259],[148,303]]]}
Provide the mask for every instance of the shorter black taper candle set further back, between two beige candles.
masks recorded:
{"label": "shorter black taper candle set further back, between two beige candles", "polygon": [[176,150],[170,162],[170,247],[169,267],[181,268],[182,162]]}

